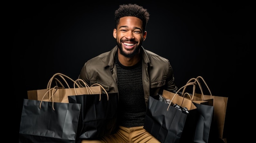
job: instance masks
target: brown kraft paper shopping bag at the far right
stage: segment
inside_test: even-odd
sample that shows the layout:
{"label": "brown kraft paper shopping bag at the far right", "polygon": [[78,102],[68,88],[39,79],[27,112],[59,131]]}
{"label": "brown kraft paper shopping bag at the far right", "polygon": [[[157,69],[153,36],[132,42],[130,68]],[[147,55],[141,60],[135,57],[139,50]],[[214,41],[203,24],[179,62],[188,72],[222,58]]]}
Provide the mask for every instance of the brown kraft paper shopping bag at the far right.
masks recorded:
{"label": "brown kraft paper shopping bag at the far right", "polygon": [[[198,76],[196,79],[204,79],[200,76]],[[226,117],[226,111],[227,111],[227,101],[228,97],[221,97],[221,96],[213,96],[211,94],[211,91],[209,87],[207,86],[206,82],[204,81],[205,86],[208,88],[210,95],[206,94],[200,94],[200,93],[195,93],[195,97],[200,98],[201,100],[211,100],[213,99],[213,121],[212,121],[212,126],[209,134],[209,140],[222,140],[225,143],[227,143],[225,132],[224,130],[224,125],[225,125],[225,117]]]}

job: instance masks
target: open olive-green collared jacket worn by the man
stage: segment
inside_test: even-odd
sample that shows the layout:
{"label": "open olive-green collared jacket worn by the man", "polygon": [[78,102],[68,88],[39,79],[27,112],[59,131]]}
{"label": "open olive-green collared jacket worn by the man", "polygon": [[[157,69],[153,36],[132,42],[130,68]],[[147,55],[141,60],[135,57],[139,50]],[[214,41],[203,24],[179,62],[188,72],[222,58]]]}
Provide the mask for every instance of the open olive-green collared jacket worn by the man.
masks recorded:
{"label": "open olive-green collared jacket worn by the man", "polygon": [[[111,51],[102,53],[88,60],[79,75],[89,86],[101,84],[108,93],[118,92],[115,53],[117,46]],[[173,69],[168,59],[145,50],[141,47],[143,56],[142,81],[145,103],[148,105],[149,96],[162,94],[163,90],[177,90],[174,84]]]}

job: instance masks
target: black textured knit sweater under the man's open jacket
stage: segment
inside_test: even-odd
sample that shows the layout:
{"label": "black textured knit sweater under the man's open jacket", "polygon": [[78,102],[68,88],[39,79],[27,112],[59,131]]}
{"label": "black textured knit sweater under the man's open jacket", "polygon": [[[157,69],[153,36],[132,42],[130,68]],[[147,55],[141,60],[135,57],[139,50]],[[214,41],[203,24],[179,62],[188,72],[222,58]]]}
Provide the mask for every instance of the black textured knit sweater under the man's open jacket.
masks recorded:
{"label": "black textured knit sweater under the man's open jacket", "polygon": [[119,92],[119,125],[128,128],[143,126],[146,105],[142,86],[141,61],[134,66],[123,66],[116,55],[115,63]]}

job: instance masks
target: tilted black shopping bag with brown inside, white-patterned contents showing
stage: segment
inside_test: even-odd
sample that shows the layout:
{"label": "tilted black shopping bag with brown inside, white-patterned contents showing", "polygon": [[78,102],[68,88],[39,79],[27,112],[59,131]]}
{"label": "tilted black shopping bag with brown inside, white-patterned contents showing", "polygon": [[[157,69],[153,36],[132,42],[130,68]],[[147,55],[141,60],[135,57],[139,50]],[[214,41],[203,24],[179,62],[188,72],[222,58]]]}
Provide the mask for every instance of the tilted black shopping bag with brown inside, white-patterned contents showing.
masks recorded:
{"label": "tilted black shopping bag with brown inside, white-patterned contents showing", "polygon": [[[169,93],[173,96],[169,97]],[[151,96],[149,97],[144,129],[161,143],[181,143],[183,134],[188,138],[190,136],[189,129],[194,126],[193,117],[196,114],[196,107],[191,100],[180,97],[177,93],[164,90],[162,96],[169,97],[168,99],[171,102],[168,104]],[[180,106],[177,105],[181,107],[187,106],[189,113],[180,110]],[[191,122],[192,125],[189,125]],[[191,137],[188,140],[192,141]],[[183,139],[183,141],[185,142],[187,140]]]}

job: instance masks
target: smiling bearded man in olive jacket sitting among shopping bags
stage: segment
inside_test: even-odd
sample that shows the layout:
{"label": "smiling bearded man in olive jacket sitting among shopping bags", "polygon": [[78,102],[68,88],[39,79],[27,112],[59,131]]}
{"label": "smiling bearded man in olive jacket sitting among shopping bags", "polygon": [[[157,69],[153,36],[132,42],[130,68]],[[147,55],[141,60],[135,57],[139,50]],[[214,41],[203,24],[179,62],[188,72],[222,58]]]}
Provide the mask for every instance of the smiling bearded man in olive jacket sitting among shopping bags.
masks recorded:
{"label": "smiling bearded man in olive jacket sitting among shopping bags", "polygon": [[120,5],[113,30],[117,46],[88,60],[81,69],[79,78],[88,85],[98,83],[119,95],[116,132],[98,140],[82,139],[82,143],[159,143],[143,128],[148,98],[177,87],[169,60],[142,47],[148,20],[147,9]]}

